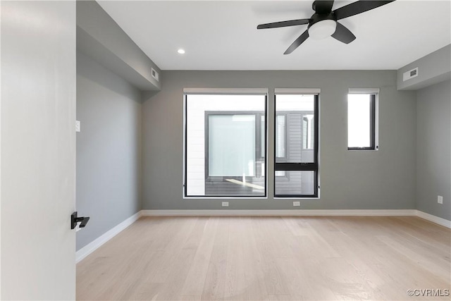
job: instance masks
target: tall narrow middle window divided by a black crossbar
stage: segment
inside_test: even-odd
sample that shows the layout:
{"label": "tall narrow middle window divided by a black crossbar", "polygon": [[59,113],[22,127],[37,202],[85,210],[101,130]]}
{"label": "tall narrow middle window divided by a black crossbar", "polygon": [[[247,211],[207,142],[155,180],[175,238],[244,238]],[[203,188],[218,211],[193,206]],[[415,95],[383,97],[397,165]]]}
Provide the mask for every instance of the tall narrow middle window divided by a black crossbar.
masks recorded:
{"label": "tall narrow middle window divided by a black crossbar", "polygon": [[276,90],[276,197],[318,197],[318,102],[318,93]]}

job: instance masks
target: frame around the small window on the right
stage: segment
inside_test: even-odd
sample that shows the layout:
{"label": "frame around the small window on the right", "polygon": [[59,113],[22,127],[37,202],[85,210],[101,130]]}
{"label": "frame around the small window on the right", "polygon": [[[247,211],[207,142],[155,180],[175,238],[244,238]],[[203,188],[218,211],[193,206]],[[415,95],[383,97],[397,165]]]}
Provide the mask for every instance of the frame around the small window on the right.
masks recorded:
{"label": "frame around the small window on the right", "polygon": [[[347,108],[349,106],[348,103],[348,97],[350,94],[369,94],[370,96],[370,125],[369,125],[369,139],[370,139],[370,146],[369,147],[350,147],[349,146],[349,136],[347,136],[347,150],[350,151],[359,151],[359,150],[378,150],[378,91],[366,91],[365,90],[359,90],[358,92],[350,92],[347,93],[346,103]],[[349,115],[347,115],[347,133],[349,132]],[[348,135],[348,134],[347,134]]]}

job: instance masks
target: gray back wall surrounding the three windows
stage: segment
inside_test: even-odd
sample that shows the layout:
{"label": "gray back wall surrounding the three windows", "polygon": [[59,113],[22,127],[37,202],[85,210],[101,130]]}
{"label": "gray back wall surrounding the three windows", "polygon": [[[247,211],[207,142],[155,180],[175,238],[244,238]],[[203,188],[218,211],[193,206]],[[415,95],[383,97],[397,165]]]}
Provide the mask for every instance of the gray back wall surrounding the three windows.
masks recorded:
{"label": "gray back wall surrounding the three windows", "polygon": [[[164,71],[162,90],[143,104],[142,209],[221,209],[221,199],[183,199],[183,88],[319,87],[321,199],[303,209],[414,209],[415,92],[397,91],[395,70]],[[379,150],[347,151],[347,92],[379,87]],[[273,142],[268,146],[268,199],[231,199],[228,209],[292,209],[273,199]]]}

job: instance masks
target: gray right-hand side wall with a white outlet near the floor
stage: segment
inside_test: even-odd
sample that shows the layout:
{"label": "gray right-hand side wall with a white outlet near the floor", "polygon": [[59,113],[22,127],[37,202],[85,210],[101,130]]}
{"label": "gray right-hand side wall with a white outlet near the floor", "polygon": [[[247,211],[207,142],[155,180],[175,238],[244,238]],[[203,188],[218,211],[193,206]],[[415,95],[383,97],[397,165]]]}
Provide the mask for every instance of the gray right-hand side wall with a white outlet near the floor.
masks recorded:
{"label": "gray right-hand side wall with a white outlet near the floor", "polygon": [[450,80],[417,91],[416,108],[416,207],[451,220]]}

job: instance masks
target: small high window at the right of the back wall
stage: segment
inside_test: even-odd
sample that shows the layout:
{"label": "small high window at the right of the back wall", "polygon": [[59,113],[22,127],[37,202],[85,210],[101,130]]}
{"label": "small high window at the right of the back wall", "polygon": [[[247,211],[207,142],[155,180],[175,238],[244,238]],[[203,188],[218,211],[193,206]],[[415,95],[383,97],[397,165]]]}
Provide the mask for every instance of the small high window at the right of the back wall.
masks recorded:
{"label": "small high window at the right of the back wall", "polygon": [[376,93],[347,94],[347,149],[378,149]]}

